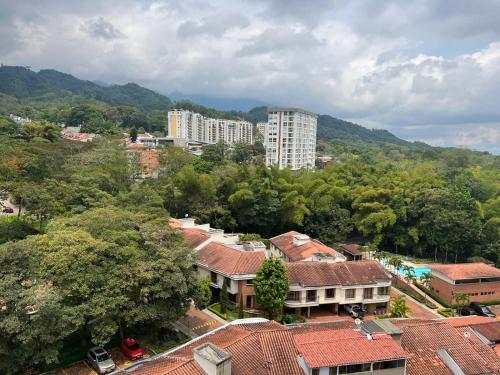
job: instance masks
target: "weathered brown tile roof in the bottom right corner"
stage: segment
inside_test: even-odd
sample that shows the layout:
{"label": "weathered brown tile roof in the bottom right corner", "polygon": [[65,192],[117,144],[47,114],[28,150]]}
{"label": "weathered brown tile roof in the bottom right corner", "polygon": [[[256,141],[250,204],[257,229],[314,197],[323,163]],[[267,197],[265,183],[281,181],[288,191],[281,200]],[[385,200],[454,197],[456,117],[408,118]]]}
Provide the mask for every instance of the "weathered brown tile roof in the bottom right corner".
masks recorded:
{"label": "weathered brown tile roof in the bottom right corner", "polygon": [[451,373],[438,355],[439,349],[445,349],[466,375],[500,373],[500,358],[491,348],[477,336],[466,337],[460,329],[442,320],[427,324],[409,323],[400,325],[400,328],[403,330],[403,348],[414,354],[408,362],[409,375]]}

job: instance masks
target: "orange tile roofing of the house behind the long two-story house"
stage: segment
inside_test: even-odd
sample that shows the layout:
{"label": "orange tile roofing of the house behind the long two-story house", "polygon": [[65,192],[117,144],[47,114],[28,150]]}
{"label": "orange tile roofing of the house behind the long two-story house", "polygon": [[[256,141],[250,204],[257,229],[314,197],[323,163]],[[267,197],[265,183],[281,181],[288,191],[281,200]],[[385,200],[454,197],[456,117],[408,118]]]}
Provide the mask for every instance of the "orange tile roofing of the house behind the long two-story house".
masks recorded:
{"label": "orange tile roofing of the house behind the long two-story house", "polygon": [[270,242],[280,249],[292,262],[301,261],[313,256],[317,253],[331,254],[335,257],[343,256],[338,251],[332,249],[331,247],[322,244],[317,240],[309,240],[302,245],[295,245],[293,243],[293,237],[300,235],[301,233],[291,231],[287,233],[280,234],[279,236],[270,239]]}

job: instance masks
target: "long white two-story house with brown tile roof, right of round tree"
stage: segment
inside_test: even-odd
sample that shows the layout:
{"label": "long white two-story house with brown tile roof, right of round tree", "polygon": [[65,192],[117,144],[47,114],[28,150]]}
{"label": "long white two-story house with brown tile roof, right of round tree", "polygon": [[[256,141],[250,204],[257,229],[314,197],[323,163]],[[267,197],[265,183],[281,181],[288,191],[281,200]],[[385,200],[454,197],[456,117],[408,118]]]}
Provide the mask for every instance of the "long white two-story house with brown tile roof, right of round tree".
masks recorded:
{"label": "long white two-story house with brown tile roof, right of round tree", "polygon": [[298,315],[362,304],[369,314],[389,308],[391,276],[376,261],[287,263],[290,292],[285,308]]}

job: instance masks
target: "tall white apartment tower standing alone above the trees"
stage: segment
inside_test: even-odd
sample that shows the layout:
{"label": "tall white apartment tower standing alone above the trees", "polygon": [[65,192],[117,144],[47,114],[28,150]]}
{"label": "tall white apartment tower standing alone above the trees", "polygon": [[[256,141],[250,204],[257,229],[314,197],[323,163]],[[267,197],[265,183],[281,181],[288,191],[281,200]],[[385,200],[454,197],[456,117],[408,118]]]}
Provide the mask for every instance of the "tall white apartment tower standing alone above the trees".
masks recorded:
{"label": "tall white apartment tower standing alone above the trees", "polygon": [[269,108],[265,128],[266,165],[314,168],[317,117],[298,108]]}

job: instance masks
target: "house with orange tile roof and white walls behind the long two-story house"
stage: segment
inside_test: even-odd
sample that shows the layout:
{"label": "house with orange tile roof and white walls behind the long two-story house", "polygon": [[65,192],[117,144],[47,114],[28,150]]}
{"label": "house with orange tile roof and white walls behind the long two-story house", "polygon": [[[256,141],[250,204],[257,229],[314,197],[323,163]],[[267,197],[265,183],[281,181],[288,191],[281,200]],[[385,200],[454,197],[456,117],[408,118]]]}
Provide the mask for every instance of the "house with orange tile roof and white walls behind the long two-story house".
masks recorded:
{"label": "house with orange tile roof and white walls behind the long two-story house", "polygon": [[306,234],[291,231],[270,239],[270,254],[285,262],[323,261],[345,262],[338,251],[326,246]]}

